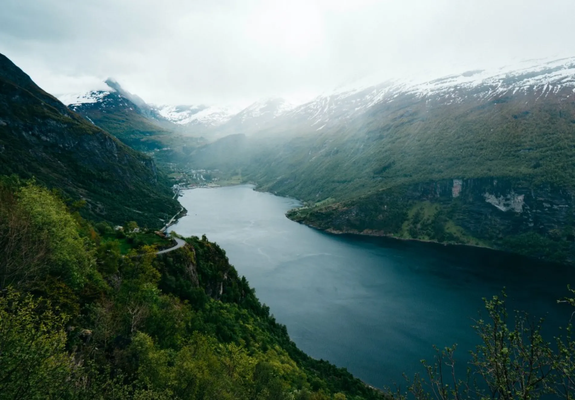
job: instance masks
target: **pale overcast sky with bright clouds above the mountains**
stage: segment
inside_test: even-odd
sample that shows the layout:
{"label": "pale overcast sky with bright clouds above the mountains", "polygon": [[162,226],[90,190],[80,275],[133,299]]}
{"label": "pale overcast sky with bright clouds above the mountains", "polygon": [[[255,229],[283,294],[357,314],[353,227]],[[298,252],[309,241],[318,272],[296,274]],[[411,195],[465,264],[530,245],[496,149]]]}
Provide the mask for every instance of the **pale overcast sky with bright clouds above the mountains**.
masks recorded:
{"label": "pale overcast sky with bright clouds above the mountains", "polygon": [[113,77],[156,104],[296,101],[376,73],[575,56],[574,0],[0,3],[0,52],[48,92]]}

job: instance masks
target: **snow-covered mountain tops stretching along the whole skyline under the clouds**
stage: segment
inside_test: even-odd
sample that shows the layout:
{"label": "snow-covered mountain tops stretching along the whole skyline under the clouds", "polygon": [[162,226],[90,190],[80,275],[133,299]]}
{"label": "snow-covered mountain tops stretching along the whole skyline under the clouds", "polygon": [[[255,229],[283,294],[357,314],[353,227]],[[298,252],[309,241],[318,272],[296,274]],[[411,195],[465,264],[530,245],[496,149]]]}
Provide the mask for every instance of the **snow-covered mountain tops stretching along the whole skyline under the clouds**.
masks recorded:
{"label": "snow-covered mountain tops stretching along the whole skyline under the clouds", "polygon": [[297,106],[282,98],[266,98],[243,109],[202,104],[155,106],[122,89],[113,79],[106,84],[107,90],[61,96],[60,100],[91,120],[88,109],[102,113],[123,109],[121,112],[135,112],[163,129],[217,139],[257,132],[322,131],[383,107],[396,107],[394,104],[432,107],[517,96],[526,96],[529,101],[542,101],[547,96],[575,98],[575,57],[531,60],[439,79],[390,79],[375,85],[357,82]]}

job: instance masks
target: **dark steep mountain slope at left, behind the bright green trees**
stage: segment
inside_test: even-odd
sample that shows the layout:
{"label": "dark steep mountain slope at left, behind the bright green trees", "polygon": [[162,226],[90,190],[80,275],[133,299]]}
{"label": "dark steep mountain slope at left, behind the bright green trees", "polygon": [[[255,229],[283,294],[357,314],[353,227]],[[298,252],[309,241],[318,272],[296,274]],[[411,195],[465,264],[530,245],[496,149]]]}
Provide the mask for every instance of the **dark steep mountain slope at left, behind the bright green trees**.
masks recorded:
{"label": "dark steep mountain slope at left, behind the bright green trees", "polygon": [[174,215],[167,178],[125,146],[45,93],[0,55],[0,174],[36,177],[83,199],[91,219],[161,226]]}

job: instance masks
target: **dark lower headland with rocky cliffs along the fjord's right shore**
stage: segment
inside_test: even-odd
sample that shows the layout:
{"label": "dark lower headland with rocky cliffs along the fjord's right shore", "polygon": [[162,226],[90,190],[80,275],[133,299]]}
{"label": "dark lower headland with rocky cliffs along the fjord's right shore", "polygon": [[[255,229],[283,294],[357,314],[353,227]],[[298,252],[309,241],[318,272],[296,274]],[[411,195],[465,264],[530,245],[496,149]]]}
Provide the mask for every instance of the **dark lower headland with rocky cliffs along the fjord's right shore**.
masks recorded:
{"label": "dark lower headland with rocky cliffs along the fjord's right shore", "polygon": [[502,177],[393,188],[288,216],[334,233],[466,243],[575,262],[573,192]]}

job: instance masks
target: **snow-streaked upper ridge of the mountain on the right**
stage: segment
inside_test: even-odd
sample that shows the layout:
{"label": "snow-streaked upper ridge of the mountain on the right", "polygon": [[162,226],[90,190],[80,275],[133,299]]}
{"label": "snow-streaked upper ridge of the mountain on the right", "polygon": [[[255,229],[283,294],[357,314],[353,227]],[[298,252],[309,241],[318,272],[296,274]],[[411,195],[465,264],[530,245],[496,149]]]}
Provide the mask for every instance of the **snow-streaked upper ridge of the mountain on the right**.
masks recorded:
{"label": "snow-streaked upper ridge of the mountain on the right", "polygon": [[283,118],[305,124],[308,129],[321,130],[362,115],[374,106],[408,99],[429,105],[449,105],[515,95],[535,95],[537,100],[549,94],[575,96],[575,57],[466,71],[431,81],[396,79],[378,85],[347,86],[297,106]]}

